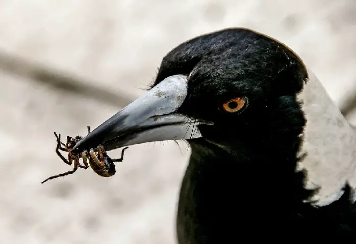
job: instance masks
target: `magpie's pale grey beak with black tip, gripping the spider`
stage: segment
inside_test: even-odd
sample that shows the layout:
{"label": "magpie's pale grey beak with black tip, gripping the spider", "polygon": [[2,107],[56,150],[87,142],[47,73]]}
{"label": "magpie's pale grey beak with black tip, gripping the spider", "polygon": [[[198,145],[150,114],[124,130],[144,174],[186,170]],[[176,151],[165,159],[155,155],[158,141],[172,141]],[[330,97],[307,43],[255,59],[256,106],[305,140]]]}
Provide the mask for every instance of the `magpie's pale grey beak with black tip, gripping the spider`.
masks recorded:
{"label": "magpie's pale grey beak with black tip, gripping the spider", "polygon": [[106,150],[145,142],[201,137],[197,124],[175,113],[187,97],[188,79],[173,75],[124,107],[75,145],[74,151],[102,144]]}

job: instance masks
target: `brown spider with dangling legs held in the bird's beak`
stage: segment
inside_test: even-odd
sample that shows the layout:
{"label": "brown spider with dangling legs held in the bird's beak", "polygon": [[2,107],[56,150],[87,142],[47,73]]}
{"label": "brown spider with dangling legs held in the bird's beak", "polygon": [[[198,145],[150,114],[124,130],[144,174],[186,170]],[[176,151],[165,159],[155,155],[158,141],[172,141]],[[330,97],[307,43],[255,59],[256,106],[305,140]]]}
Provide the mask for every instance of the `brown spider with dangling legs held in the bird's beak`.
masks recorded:
{"label": "brown spider with dangling legs held in the bird's beak", "polygon": [[[90,133],[89,126],[88,133]],[[124,150],[129,148],[124,147],[121,150],[121,157],[119,159],[111,159],[107,155],[103,145],[98,145],[96,148],[89,148],[87,150],[82,151],[82,153],[74,154],[71,150],[73,149],[75,144],[77,144],[80,140],[83,139],[83,137],[76,136],[72,138],[70,136],[67,136],[67,142],[64,144],[63,142],[61,142],[61,134],[57,135],[57,133],[55,132],[55,136],[57,138],[56,153],[58,157],[60,157],[62,161],[68,165],[72,165],[72,163],[74,162],[74,167],[71,171],[48,177],[47,179],[43,180],[41,184],[50,179],[73,174],[75,171],[77,171],[78,167],[82,169],[87,169],[90,166],[93,171],[100,176],[113,176],[116,173],[114,162],[122,162]],[[66,159],[59,150],[66,151],[68,153],[68,159]],[[80,159],[83,160],[84,165],[80,164]]]}

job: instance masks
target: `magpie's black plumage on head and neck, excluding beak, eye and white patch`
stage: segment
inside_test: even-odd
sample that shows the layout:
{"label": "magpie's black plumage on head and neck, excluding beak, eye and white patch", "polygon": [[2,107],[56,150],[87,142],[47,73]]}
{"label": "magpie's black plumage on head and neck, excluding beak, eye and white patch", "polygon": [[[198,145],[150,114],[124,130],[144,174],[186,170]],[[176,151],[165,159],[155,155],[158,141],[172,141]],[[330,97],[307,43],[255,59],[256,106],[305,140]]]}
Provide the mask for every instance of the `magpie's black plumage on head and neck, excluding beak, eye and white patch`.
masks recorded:
{"label": "magpie's black plumage on head and neck, excluding beak, eye and white patch", "polygon": [[[188,140],[192,155],[182,182],[179,243],[235,243],[356,237],[356,205],[343,196],[316,207],[296,172],[306,119],[296,95],[308,78],[285,45],[248,29],[225,29],[189,40],[164,58],[154,85],[188,76],[177,111],[211,125]],[[247,97],[239,114],[221,104]],[[322,102],[322,101],[321,101]]]}

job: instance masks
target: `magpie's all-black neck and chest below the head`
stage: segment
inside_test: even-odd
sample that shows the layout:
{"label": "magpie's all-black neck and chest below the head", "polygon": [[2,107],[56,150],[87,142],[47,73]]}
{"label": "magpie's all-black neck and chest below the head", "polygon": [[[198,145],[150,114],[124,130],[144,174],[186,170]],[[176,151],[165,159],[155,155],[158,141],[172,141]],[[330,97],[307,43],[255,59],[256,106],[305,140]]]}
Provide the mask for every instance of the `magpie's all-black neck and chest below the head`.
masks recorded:
{"label": "magpie's all-black neck and chest below the head", "polygon": [[[304,188],[306,176],[296,170],[296,151],[288,150],[295,142],[286,138],[283,142],[284,146],[277,146],[255,141],[255,149],[250,151],[251,145],[245,141],[245,147],[239,145],[241,151],[236,152],[236,148],[205,139],[191,141],[177,233],[194,235],[204,240],[201,243],[220,243],[222,236],[232,239],[237,235],[257,240],[260,235],[250,235],[255,230],[266,239],[277,240],[285,240],[281,233],[297,239],[319,238],[321,231],[332,236],[354,235],[354,223],[349,221],[355,207],[350,189],[322,209],[304,201],[315,191]],[[338,232],[339,225],[345,232]]]}

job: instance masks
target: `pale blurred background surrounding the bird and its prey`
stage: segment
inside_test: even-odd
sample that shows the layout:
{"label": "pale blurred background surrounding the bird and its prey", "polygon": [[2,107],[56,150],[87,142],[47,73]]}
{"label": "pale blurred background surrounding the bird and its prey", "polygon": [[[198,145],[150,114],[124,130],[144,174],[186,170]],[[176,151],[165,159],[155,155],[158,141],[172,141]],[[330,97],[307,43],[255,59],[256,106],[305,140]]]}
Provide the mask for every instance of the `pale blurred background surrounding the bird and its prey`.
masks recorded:
{"label": "pale blurred background surrounding the bird and its prey", "polygon": [[131,146],[110,178],[79,169],[41,185],[71,170],[53,132],[86,135],[144,93],[169,50],[234,26],[292,48],[356,121],[354,0],[0,0],[0,243],[174,243],[185,143]]}

